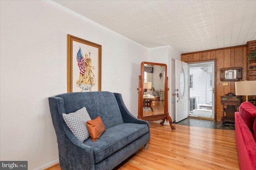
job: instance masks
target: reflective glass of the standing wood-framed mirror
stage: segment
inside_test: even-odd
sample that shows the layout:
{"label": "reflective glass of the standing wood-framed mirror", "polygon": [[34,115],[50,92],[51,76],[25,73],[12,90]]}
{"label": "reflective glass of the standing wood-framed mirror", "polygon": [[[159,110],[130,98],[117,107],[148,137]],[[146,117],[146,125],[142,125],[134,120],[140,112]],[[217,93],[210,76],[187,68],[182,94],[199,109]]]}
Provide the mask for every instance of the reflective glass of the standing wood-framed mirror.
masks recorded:
{"label": "reflective glass of the standing wood-framed mirror", "polygon": [[165,67],[144,64],[143,116],[164,114]]}

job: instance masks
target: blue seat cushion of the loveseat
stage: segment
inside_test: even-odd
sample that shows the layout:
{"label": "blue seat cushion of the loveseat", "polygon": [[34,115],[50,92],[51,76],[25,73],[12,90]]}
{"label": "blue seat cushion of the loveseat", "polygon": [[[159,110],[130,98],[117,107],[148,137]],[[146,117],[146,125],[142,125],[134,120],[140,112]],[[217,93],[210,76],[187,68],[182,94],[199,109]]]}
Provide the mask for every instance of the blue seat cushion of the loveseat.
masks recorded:
{"label": "blue seat cushion of the loveseat", "polygon": [[148,133],[146,124],[124,123],[106,129],[97,141],[86,140],[84,144],[92,147],[94,162],[97,164],[146,133]]}

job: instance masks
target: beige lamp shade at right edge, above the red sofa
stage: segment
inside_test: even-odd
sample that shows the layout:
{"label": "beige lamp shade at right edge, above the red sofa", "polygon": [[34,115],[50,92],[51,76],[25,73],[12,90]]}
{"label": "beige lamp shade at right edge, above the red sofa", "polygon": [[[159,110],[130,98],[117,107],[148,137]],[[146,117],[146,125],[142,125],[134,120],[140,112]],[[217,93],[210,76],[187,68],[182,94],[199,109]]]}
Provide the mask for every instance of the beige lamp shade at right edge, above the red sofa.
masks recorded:
{"label": "beige lamp shade at right edge, above the red sofa", "polygon": [[256,95],[256,80],[235,82],[237,96]]}

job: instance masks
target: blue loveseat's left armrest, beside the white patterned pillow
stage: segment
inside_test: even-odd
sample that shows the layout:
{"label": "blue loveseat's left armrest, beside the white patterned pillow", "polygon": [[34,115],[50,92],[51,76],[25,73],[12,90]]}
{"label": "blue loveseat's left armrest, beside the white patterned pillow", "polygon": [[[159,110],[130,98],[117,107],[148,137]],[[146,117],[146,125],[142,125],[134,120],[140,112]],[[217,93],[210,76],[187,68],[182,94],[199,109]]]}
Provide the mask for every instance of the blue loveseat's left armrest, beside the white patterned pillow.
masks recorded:
{"label": "blue loveseat's left armrest, beside the white patterned pillow", "polygon": [[51,97],[48,100],[57,136],[60,168],[64,170],[94,170],[93,149],[78,141],[62,117],[62,113],[65,113],[63,99]]}

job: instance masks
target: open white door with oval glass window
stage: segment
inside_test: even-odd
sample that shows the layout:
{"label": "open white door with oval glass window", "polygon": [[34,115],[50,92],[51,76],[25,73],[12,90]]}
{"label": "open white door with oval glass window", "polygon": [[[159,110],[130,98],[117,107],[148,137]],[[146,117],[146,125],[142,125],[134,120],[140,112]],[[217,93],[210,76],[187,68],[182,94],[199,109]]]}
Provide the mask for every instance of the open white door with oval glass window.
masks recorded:
{"label": "open white door with oval glass window", "polygon": [[176,122],[188,117],[188,64],[175,60]]}

